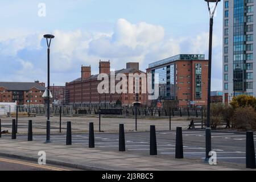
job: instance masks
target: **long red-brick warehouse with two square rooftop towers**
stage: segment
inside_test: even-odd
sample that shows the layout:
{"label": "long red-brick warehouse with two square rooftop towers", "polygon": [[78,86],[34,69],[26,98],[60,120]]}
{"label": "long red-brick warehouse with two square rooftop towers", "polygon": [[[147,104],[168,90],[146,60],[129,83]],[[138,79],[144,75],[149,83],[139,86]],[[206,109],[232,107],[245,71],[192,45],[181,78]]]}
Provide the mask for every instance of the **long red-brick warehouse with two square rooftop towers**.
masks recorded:
{"label": "long red-brick warehouse with two square rooftop towers", "polygon": [[[115,76],[118,73],[123,73],[127,76],[129,73],[144,73],[137,69],[138,63],[127,63],[125,69],[115,71]],[[106,93],[98,93],[98,84],[100,80],[97,80],[98,75],[91,75],[91,67],[81,67],[81,77],[66,83],[65,90],[65,100],[69,104],[84,104],[84,105],[98,105],[98,104],[115,104],[117,100],[122,102],[122,105],[132,105],[135,102],[135,92],[134,93],[110,93],[110,61],[101,61],[99,63],[99,73],[105,73],[109,76],[109,90]],[[146,74],[146,73],[144,73]],[[135,79],[134,79],[135,80]],[[119,81],[115,81],[117,84]],[[127,89],[129,89],[129,84],[127,83]],[[147,94],[139,94],[139,101],[142,104],[147,104]]]}

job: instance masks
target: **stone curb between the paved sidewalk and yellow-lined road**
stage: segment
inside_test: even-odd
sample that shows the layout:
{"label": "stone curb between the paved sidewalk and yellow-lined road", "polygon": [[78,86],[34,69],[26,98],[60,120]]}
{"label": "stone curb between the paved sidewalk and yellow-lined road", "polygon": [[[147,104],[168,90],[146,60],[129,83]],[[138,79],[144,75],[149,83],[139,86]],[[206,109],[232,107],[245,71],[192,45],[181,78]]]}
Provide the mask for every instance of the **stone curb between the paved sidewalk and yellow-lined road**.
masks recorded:
{"label": "stone curb between the paved sidewalk and yellow-lined road", "polygon": [[[0,152],[0,156],[5,156],[5,157],[9,157],[9,158],[14,158],[14,159],[20,159],[20,160],[29,160],[31,162],[35,162],[38,160],[38,158],[16,155],[16,154],[6,154],[6,153],[2,153],[2,152]],[[109,169],[109,168],[84,166],[81,164],[71,164],[71,163],[60,162],[60,161],[56,161],[56,160],[47,160],[47,164],[70,167],[70,168],[77,168],[77,169],[82,169],[85,171],[114,171],[113,169]]]}

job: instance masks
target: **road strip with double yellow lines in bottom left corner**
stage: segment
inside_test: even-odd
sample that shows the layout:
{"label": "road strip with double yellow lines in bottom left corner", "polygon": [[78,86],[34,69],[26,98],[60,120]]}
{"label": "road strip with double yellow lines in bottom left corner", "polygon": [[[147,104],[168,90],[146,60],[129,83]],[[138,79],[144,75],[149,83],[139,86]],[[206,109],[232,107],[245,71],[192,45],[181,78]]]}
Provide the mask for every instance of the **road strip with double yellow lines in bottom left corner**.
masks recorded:
{"label": "road strip with double yellow lines in bottom left corner", "polygon": [[70,171],[77,170],[52,165],[39,165],[35,162],[11,159],[0,156],[0,171]]}

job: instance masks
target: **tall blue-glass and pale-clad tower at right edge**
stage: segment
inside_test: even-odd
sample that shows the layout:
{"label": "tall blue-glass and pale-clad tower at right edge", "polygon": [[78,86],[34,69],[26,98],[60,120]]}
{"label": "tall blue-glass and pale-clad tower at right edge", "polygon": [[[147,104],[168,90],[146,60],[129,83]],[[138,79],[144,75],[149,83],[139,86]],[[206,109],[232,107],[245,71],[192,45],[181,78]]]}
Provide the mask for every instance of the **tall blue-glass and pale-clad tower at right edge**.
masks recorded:
{"label": "tall blue-glass and pale-clad tower at right edge", "polygon": [[224,0],[224,102],[246,94],[256,96],[255,0]]}

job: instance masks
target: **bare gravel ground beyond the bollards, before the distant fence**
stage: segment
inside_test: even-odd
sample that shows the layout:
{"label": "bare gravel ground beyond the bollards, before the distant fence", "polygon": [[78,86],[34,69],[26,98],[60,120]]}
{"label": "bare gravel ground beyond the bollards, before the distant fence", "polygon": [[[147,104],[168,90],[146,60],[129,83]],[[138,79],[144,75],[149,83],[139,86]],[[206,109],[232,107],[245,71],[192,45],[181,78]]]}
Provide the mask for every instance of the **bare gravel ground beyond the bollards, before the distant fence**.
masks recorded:
{"label": "bare gravel ground beyond the bollards, before the distant fence", "polygon": [[[2,131],[8,130],[11,133],[11,123],[12,119],[15,118],[7,118],[0,117],[2,121]],[[20,117],[18,118],[18,134],[27,133],[28,128],[28,120],[32,120],[33,123],[33,133],[34,134],[44,134],[46,133],[46,120],[47,118],[44,116],[37,117]],[[59,117],[51,117],[51,133],[59,133],[60,120]],[[89,130],[89,122],[94,123],[95,132],[98,131],[98,121],[99,118],[95,115],[90,115],[88,117],[63,117],[61,122],[61,130],[65,133],[67,128],[67,121],[72,122],[72,133],[88,133]],[[104,132],[118,132],[119,131],[119,123],[125,124],[125,131],[134,131],[135,130],[135,119],[134,118],[118,118],[113,116],[109,118],[109,116],[102,115],[101,117],[101,131]],[[187,117],[177,117],[172,118],[171,127],[172,129],[176,129],[177,126],[181,126],[184,129],[188,127],[189,121]],[[138,131],[149,131],[150,125],[155,125],[156,130],[164,131],[169,130],[169,119],[156,119],[156,118],[138,118],[137,119],[137,130]]]}

